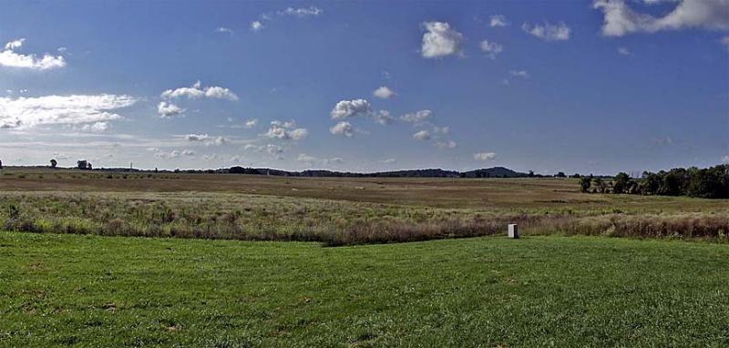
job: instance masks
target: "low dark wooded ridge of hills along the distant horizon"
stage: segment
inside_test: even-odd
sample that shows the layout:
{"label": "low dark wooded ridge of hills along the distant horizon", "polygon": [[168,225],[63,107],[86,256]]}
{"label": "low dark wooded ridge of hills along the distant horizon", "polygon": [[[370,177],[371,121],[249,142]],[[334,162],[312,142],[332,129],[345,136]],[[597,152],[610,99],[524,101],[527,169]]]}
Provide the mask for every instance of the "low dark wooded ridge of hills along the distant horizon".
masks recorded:
{"label": "low dark wooded ridge of hills along the distant horizon", "polygon": [[232,167],[221,169],[229,174],[274,175],[289,177],[342,177],[342,178],[525,178],[529,175],[517,171],[494,167],[459,172],[444,169],[411,169],[396,171],[380,171],[375,173],[352,173],[331,170],[286,171],[268,168]]}

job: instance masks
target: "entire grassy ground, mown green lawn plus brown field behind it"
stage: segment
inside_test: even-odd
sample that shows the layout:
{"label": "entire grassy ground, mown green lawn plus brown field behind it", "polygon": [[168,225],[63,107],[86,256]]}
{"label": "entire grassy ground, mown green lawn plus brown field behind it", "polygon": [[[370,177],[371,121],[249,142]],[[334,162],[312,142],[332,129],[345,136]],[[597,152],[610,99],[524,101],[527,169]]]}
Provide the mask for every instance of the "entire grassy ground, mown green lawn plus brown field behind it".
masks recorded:
{"label": "entire grassy ground, mown green lawn plus brown field behind it", "polygon": [[5,169],[0,230],[0,346],[729,345],[727,200]]}

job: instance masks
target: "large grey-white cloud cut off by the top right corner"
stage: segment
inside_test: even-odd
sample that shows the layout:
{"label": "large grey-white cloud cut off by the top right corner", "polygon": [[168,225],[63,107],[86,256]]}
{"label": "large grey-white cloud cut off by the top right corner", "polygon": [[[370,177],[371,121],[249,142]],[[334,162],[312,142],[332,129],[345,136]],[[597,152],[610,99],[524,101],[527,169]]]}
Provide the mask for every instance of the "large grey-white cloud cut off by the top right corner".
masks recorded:
{"label": "large grey-white cloud cut off by the top right corner", "polygon": [[604,36],[684,28],[729,30],[727,0],[683,0],[673,11],[661,17],[635,12],[622,0],[596,0],[593,7],[602,11]]}

